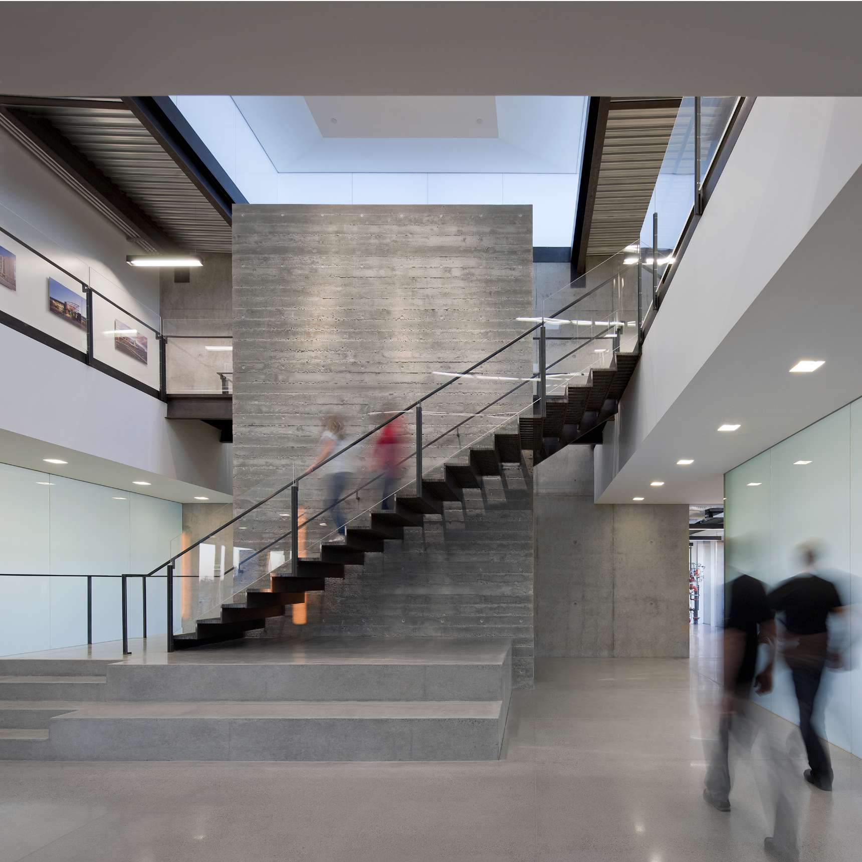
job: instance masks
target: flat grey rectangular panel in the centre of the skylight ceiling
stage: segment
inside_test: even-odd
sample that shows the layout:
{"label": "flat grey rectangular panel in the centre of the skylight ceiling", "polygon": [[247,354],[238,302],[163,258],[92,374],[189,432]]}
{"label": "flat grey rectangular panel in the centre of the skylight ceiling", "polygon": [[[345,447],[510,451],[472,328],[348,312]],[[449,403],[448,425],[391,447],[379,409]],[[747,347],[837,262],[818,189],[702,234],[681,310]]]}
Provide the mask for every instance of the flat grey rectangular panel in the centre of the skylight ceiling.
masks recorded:
{"label": "flat grey rectangular panel in the centre of the skylight ceiling", "polygon": [[490,96],[308,96],[305,102],[324,138],[497,137]]}

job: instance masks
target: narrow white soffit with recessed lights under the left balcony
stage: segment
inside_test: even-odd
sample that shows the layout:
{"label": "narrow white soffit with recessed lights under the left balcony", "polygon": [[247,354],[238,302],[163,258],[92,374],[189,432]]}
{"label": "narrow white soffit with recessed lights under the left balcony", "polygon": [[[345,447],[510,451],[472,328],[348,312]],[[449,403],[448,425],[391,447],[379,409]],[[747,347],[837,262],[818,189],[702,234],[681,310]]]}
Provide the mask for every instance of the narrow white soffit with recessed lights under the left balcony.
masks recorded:
{"label": "narrow white soffit with recessed lights under the left balcony", "polygon": [[[147,497],[159,497],[162,500],[173,500],[176,503],[201,503],[195,497],[209,497],[209,503],[230,503],[233,497],[217,490],[203,488],[201,485],[180,482],[178,479],[160,476],[146,470],[138,470],[127,464],[118,464],[106,458],[97,458],[75,449],[67,449],[15,434],[0,428],[0,460],[4,464],[16,467],[27,467],[41,473],[53,476],[64,476],[79,479],[82,482],[104,485],[108,488],[143,494]],[[67,464],[46,464],[43,459],[56,458],[67,461]],[[134,482],[149,482],[148,485],[136,485]],[[230,517],[225,515],[225,520]]]}

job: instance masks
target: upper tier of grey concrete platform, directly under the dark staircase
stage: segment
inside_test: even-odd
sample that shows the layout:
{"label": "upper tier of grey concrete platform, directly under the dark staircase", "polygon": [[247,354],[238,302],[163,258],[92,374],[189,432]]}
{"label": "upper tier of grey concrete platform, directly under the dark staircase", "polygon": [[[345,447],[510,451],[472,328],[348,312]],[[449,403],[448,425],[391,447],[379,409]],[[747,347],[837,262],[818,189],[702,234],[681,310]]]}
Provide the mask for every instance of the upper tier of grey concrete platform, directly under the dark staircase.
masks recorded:
{"label": "upper tier of grey concrete platform, directly under the dark staircase", "polygon": [[[163,660],[162,660],[163,659]],[[509,702],[506,639],[246,639],[110,665],[112,701]]]}

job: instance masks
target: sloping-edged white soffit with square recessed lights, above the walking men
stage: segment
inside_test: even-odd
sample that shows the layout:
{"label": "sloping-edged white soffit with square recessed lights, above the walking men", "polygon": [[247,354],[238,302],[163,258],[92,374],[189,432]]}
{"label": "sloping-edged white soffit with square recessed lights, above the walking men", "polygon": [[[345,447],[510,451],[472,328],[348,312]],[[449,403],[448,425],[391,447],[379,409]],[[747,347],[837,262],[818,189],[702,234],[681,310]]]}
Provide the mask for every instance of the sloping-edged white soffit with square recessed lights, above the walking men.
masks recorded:
{"label": "sloping-edged white soffit with square recessed lights, above the walking men", "polygon": [[[709,210],[704,218],[708,217]],[[725,472],[862,396],[859,222],[862,168],[641,440],[597,502],[631,503],[636,496],[646,497],[647,503],[721,500]],[[721,266],[721,260],[715,265]],[[674,287],[671,284],[667,303]],[[715,306],[703,309],[703,314],[721,314],[723,301],[715,297]],[[696,320],[690,321],[689,331],[678,334],[684,340],[696,336]],[[803,358],[825,359],[826,365],[812,374],[790,374],[790,367]],[[639,372],[640,367],[635,376]],[[633,378],[629,386],[636,382]],[[625,421],[621,412],[619,422]],[[740,429],[717,433],[724,422],[739,422]],[[694,459],[694,464],[678,466],[680,458]],[[651,488],[655,480],[664,481],[664,486]]]}

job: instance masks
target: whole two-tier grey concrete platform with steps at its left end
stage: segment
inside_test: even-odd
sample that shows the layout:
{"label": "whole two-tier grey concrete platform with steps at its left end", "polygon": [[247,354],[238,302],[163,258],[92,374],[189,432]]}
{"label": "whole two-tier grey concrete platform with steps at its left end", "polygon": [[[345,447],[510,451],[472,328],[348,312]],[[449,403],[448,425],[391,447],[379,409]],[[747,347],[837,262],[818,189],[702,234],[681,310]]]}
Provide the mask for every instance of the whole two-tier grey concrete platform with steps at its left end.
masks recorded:
{"label": "whole two-tier grey concrete platform with steps at its left end", "polygon": [[[196,651],[194,661],[109,664],[106,676],[95,677],[99,683],[92,674],[67,675],[68,685],[101,685],[87,689],[90,700],[18,700],[13,693],[0,708],[0,758],[499,756],[511,690],[509,640],[322,639],[284,644],[282,655],[272,643],[245,643],[229,655],[224,648]],[[17,674],[7,669],[4,679],[35,679],[27,663],[15,665]]]}

